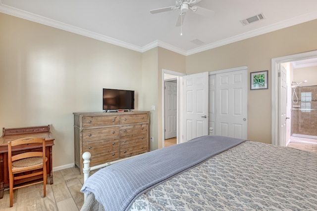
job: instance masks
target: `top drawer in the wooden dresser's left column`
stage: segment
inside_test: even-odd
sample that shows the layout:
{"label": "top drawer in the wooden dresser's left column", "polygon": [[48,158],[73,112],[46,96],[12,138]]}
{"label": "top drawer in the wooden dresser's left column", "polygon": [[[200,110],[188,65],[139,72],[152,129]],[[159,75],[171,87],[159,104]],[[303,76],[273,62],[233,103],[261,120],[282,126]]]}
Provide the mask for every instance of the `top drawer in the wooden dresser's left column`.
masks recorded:
{"label": "top drawer in the wooden dresser's left column", "polygon": [[115,115],[83,117],[83,127],[111,126],[119,123],[120,117]]}

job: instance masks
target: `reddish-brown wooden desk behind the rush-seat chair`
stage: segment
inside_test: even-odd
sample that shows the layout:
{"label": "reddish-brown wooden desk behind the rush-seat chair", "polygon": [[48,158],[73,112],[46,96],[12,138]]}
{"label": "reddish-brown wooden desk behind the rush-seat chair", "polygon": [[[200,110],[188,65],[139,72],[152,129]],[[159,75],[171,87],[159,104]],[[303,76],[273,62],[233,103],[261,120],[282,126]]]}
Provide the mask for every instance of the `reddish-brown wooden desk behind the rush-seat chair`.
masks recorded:
{"label": "reddish-brown wooden desk behind the rush-seat chair", "polygon": [[[43,137],[46,140],[46,169],[48,181],[53,184],[53,145],[54,138],[50,131],[50,126],[40,127],[20,127],[20,128],[2,128],[2,137],[0,137],[0,199],[3,198],[4,188],[9,187],[9,172],[8,172],[8,141],[15,140],[23,137]],[[42,144],[25,144],[22,147],[15,147],[14,153],[42,150]],[[13,152],[12,152],[13,153]],[[41,175],[34,176],[28,179],[21,179],[16,181],[15,184],[23,184],[29,181],[41,180]]]}

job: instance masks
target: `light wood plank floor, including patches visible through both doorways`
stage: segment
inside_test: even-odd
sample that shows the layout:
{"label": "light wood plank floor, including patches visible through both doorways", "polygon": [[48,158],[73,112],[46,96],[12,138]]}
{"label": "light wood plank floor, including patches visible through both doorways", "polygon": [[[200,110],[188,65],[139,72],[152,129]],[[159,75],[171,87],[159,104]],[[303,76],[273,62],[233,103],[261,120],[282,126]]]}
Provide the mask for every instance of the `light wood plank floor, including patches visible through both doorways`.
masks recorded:
{"label": "light wood plank floor, including patches visible through both doorways", "polygon": [[[169,140],[171,145],[175,140]],[[165,141],[166,145],[166,141]],[[291,142],[288,147],[317,152],[317,144]],[[84,176],[78,168],[69,168],[53,172],[54,184],[47,185],[43,198],[43,184],[32,185],[14,190],[13,207],[9,207],[9,191],[4,191],[0,199],[1,211],[79,211],[84,203],[84,194],[80,189]]]}

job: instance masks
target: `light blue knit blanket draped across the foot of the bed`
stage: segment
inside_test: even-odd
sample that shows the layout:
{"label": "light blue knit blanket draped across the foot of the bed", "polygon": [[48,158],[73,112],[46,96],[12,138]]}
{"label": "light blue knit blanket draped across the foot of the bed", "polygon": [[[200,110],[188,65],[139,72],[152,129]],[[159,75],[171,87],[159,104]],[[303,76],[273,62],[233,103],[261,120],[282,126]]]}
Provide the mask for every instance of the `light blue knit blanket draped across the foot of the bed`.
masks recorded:
{"label": "light blue knit blanket draped across the foot of the bed", "polygon": [[244,141],[202,136],[148,152],[97,171],[88,178],[81,192],[93,193],[106,211],[124,211],[153,186]]}

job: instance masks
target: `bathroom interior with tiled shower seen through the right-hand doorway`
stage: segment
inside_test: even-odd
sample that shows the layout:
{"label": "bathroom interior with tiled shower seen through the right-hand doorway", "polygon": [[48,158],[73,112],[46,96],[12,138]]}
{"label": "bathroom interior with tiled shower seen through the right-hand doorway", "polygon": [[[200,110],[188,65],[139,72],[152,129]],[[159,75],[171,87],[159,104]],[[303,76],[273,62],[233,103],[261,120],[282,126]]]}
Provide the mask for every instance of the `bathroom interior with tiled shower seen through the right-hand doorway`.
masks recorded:
{"label": "bathroom interior with tiled shower seen through the right-hand doorway", "polygon": [[317,143],[317,58],[282,63],[287,70],[287,142]]}

